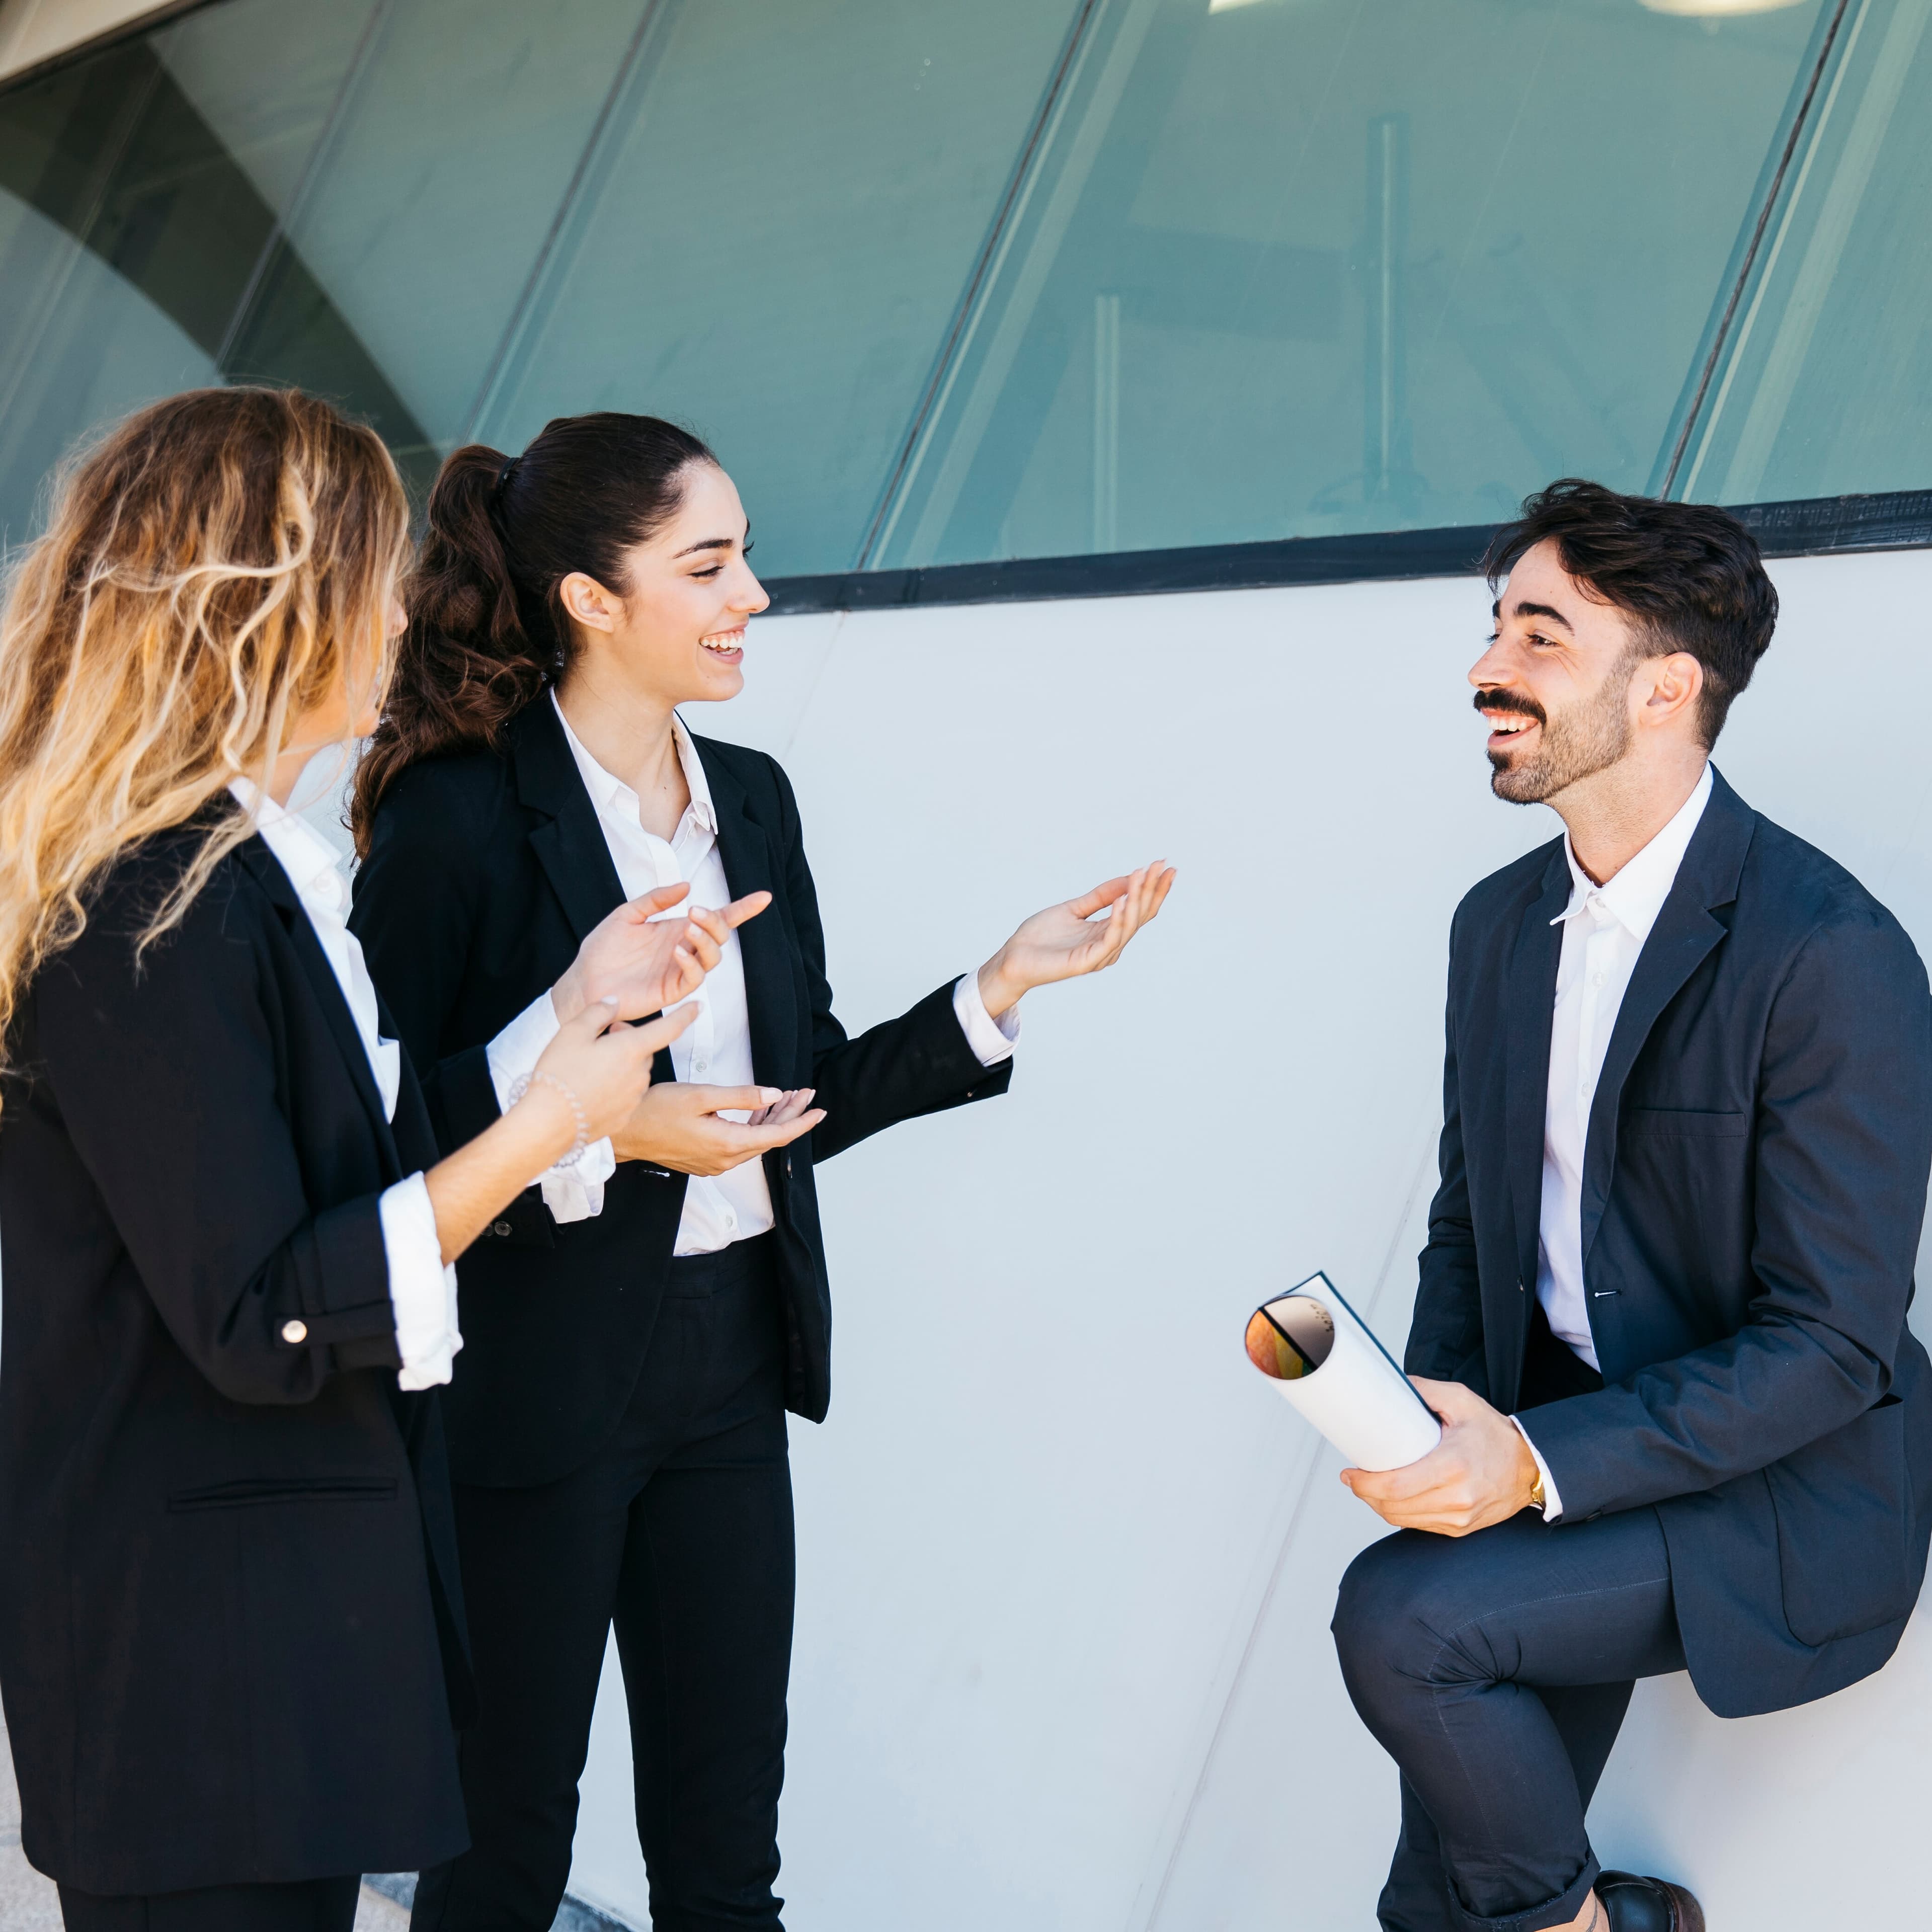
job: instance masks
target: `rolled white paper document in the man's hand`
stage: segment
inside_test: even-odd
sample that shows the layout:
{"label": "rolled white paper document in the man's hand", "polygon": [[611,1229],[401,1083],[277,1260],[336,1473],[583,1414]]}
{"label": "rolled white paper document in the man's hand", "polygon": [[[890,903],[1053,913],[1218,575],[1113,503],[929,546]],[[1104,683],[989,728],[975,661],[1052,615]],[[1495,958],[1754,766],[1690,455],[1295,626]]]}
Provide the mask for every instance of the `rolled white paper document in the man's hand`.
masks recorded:
{"label": "rolled white paper document in the man's hand", "polygon": [[1327,1275],[1254,1310],[1248,1360],[1354,1468],[1403,1468],[1441,1441],[1435,1410]]}

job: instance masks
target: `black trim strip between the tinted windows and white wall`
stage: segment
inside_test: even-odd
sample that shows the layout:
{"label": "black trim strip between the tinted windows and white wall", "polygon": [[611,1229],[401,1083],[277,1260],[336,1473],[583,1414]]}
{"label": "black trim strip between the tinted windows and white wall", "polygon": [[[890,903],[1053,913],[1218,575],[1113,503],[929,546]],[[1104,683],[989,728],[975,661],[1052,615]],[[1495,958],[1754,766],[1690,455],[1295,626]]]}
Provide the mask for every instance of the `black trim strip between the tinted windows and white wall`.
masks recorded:
{"label": "black trim strip between the tinted windows and white wall", "polygon": [[[1932,547],[1932,491],[1752,502],[1731,514],[1756,533],[1766,556]],[[927,605],[1466,578],[1476,574],[1495,529],[1493,524],[1457,524],[1447,529],[1393,529],[1358,537],[1211,543],[1182,551],[1022,556],[993,564],[933,564],[925,570],[852,570],[773,578],[765,589],[771,593],[773,614],[792,616],[810,611],[902,611]]]}

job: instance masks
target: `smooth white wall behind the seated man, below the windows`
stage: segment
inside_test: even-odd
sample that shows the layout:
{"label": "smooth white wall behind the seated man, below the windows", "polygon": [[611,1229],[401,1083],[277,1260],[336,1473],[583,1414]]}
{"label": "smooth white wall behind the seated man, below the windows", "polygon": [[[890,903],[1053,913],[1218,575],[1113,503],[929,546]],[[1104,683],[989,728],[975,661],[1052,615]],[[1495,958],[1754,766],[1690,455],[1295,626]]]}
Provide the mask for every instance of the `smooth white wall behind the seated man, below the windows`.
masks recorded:
{"label": "smooth white wall behind the seated man, below the windows", "polygon": [[[1776,576],[1719,763],[1932,949],[1932,553]],[[1437,582],[765,620],[746,697],[694,717],[786,761],[848,1026],[1037,904],[1180,866],[1119,970],[1028,1001],[1010,1097],[821,1175],[796,1932],[1372,1926],[1395,1774],[1327,1615],[1378,1522],[1240,1329],[1327,1267],[1405,1333],[1449,912],[1553,829],[1484,782],[1486,618]],[[572,1889],[643,1924],[605,1692]],[[1779,1718],[1644,1687],[1592,1826],[1712,1932],[1913,1922],[1901,1861],[1857,1853],[1915,1835],[1928,1783],[1922,1613],[1880,1679]]]}

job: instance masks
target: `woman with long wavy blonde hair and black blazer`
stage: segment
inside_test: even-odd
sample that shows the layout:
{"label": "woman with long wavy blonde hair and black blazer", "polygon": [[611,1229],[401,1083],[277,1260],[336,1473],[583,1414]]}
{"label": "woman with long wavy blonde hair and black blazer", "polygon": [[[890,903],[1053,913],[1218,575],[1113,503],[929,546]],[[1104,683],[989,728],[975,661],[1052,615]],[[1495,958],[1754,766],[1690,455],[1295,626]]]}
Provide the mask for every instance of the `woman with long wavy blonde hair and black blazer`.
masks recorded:
{"label": "woman with long wavy blonde hair and black blazer", "polygon": [[[730,914],[618,908],[446,1159],[286,806],[379,709],[383,444],[207,390],[68,477],[0,620],[0,1689],[87,1932],[340,1932],[466,1843],[448,1264],[639,1101]],[[682,1009],[684,1014],[690,1007]]]}

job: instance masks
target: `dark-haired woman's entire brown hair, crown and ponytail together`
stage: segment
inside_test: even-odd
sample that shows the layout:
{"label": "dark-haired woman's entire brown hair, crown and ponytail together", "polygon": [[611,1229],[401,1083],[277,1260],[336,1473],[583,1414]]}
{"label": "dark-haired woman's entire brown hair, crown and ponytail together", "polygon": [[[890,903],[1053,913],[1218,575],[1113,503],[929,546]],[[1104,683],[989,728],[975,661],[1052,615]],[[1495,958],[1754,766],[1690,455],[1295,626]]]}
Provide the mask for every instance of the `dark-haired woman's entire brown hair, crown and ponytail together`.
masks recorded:
{"label": "dark-haired woman's entire brown hair, crown and ponytail together", "polygon": [[570,665],[560,585],[574,570],[620,589],[626,551],[717,458],[657,415],[560,415],[522,456],[469,442],[437,473],[429,535],[404,587],[410,630],[383,723],[355,773],[350,825],[367,854],[375,810],[419,757],[498,746]]}

